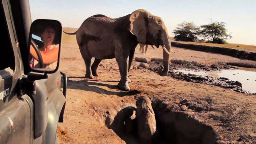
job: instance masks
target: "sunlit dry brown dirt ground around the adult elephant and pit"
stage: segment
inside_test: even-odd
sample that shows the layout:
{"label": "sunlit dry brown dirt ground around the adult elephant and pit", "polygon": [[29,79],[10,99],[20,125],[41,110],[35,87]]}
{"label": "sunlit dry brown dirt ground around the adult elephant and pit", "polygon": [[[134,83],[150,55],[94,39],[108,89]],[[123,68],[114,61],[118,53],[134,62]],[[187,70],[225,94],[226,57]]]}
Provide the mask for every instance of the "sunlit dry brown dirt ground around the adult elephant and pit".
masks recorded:
{"label": "sunlit dry brown dirt ground around the adult elephant and pit", "polygon": [[[60,70],[68,76],[68,90],[64,122],[58,125],[60,144],[136,143],[132,137],[121,139],[108,126],[121,109],[136,107],[136,98],[142,95],[152,101],[160,100],[167,105],[169,111],[192,116],[198,123],[211,126],[218,143],[256,143],[256,96],[212,85],[190,83],[170,76],[162,77],[146,68],[130,70],[131,91],[123,92],[116,86],[120,73],[115,59],[102,60],[98,68],[99,76],[86,79],[85,64],[78,45],[75,41],[65,41],[66,34],[63,35]],[[163,57],[162,48],[153,50],[148,47],[146,55],[138,51],[139,46],[135,56]],[[198,61],[205,65],[222,61],[255,63],[175,47],[172,47],[172,52],[172,59]],[[189,108],[191,106],[194,108]],[[186,131],[190,131],[189,127]],[[196,128],[193,131],[197,131]]]}

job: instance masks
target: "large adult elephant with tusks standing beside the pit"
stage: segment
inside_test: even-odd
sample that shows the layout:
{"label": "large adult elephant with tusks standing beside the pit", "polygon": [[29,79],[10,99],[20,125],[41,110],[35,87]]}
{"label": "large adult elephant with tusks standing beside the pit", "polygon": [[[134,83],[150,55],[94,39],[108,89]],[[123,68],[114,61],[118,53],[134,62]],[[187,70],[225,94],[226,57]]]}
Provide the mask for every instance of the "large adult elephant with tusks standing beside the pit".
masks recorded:
{"label": "large adult elephant with tusks standing beside the pit", "polygon": [[[86,78],[98,76],[97,68],[101,60],[116,58],[121,75],[117,86],[129,91],[128,70],[138,43],[155,45],[157,48],[162,45],[164,68],[159,68],[158,73],[165,76],[168,72],[171,43],[167,29],[160,17],[146,10],[139,9],[116,19],[101,14],[94,15],[84,20],[76,32],[66,34],[76,34],[76,41],[86,66]],[[91,66],[92,57],[95,60]]]}

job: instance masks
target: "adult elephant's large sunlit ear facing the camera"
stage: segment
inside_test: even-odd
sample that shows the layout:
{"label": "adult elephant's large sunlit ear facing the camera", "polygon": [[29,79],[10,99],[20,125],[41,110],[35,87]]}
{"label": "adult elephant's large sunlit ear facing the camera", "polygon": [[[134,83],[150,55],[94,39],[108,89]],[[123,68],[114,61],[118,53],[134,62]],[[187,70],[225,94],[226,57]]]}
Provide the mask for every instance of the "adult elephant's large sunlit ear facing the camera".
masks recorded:
{"label": "adult elephant's large sunlit ear facing the camera", "polygon": [[148,11],[139,9],[132,12],[129,18],[131,21],[129,31],[137,37],[137,41],[141,44],[146,43],[148,19],[152,17],[153,15]]}

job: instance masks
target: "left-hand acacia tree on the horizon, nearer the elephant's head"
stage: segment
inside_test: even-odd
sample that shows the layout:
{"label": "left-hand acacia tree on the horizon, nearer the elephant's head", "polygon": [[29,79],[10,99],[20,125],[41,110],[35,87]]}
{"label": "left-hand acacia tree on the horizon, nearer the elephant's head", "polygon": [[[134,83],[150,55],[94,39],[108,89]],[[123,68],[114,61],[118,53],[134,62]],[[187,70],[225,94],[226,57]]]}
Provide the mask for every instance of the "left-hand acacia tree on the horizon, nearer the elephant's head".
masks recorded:
{"label": "left-hand acacia tree on the horizon, nearer the elephant's head", "polygon": [[173,30],[175,41],[191,41],[197,40],[199,28],[193,22],[182,22]]}

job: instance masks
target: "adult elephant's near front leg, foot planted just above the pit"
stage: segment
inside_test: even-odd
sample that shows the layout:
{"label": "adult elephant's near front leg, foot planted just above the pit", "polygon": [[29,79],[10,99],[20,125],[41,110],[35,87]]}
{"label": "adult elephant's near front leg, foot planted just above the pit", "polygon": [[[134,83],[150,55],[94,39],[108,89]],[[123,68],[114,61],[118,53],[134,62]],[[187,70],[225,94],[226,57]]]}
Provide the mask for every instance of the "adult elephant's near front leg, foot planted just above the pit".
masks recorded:
{"label": "adult elephant's near front leg, foot planted just above the pit", "polygon": [[122,57],[116,58],[116,61],[121,75],[121,80],[117,84],[117,86],[124,91],[129,91],[130,87],[128,84],[128,57],[126,59]]}

